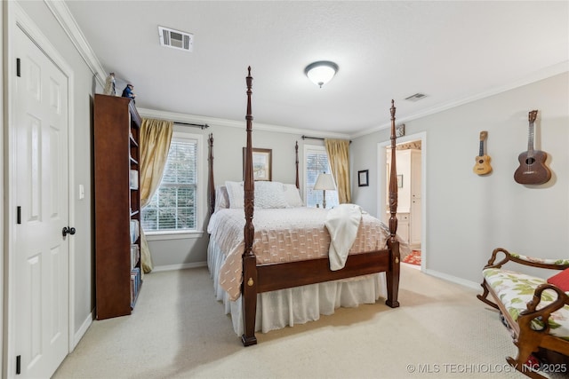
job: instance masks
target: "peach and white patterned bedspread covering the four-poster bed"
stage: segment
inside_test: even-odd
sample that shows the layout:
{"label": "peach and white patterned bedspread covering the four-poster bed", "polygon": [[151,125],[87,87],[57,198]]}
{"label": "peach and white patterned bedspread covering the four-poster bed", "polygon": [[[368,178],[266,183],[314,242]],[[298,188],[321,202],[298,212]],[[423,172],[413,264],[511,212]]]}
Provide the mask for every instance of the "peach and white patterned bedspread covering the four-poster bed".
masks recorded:
{"label": "peach and white patterned bedspread covering the four-poster bed", "polygon": [[[328,257],[330,233],[325,227],[328,209],[255,209],[252,250],[259,265]],[[244,210],[221,209],[208,225],[210,239],[225,252],[219,283],[231,300],[241,294],[244,251]],[[362,214],[349,254],[386,249],[389,230],[368,213]]]}

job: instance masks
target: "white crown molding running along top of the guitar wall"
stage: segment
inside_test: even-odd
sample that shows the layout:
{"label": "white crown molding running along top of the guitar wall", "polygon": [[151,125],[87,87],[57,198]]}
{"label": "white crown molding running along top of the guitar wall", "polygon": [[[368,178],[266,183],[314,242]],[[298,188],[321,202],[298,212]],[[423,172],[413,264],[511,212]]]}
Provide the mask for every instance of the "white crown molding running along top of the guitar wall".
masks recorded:
{"label": "white crown molding running along top of the guitar wall", "polygon": [[[437,114],[439,112],[443,112],[443,111],[445,111],[447,109],[451,109],[453,107],[459,107],[459,106],[462,106],[464,104],[471,103],[473,101],[489,98],[491,96],[498,95],[498,94],[506,92],[506,91],[515,90],[516,88],[523,87],[527,84],[536,83],[536,82],[539,82],[543,79],[547,79],[551,76],[564,74],[566,72],[569,72],[569,60],[565,60],[563,62],[557,63],[557,65],[542,68],[541,70],[533,72],[530,75],[525,75],[523,78],[518,79],[517,81],[507,83],[507,84],[504,84],[504,85],[499,86],[499,87],[493,87],[492,89],[490,89],[488,91],[480,92],[480,93],[477,93],[476,95],[472,95],[472,96],[462,98],[462,99],[447,101],[445,104],[439,105],[437,107],[431,107],[431,108],[425,109],[421,112],[408,115],[406,117],[397,118],[397,123],[410,122],[410,121],[417,120],[419,118],[428,116],[430,114]],[[388,129],[390,127],[391,127],[391,122],[387,122],[387,123],[384,123],[382,125],[376,126],[372,129],[368,129],[368,130],[361,131],[359,133],[350,135],[349,138],[352,139],[352,138],[359,138],[359,137],[367,136],[368,134],[372,134],[372,133],[379,131],[379,130]]]}

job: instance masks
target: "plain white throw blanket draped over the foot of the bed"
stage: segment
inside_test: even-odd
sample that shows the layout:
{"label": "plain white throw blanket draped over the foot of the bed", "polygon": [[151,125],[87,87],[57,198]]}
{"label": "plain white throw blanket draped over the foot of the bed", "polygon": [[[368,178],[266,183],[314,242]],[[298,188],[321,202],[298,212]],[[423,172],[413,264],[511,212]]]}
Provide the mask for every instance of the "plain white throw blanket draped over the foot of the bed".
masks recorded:
{"label": "plain white throw blanket draped over the foot of the bed", "polygon": [[328,211],[325,225],[331,239],[328,252],[330,270],[340,270],[346,265],[361,220],[362,209],[356,204],[340,204]]}

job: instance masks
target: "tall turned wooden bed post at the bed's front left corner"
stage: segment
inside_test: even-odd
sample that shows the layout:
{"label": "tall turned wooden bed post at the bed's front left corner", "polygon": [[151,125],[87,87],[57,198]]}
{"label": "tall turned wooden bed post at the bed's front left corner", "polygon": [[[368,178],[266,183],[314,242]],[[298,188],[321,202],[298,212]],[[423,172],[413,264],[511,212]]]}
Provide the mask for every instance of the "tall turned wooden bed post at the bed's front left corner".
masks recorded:
{"label": "tall turned wooden bed post at the bed's front left corner", "polygon": [[251,67],[248,68],[249,74],[246,77],[247,83],[247,146],[245,147],[245,177],[244,177],[244,252],[243,252],[243,282],[241,284],[241,303],[243,306],[244,334],[241,342],[244,346],[257,343],[255,337],[255,314],[257,312],[257,260],[252,253],[252,242],[255,228],[252,225],[252,214],[254,209],[254,186],[255,182],[252,175],[252,114],[251,114],[251,88],[252,76]]}

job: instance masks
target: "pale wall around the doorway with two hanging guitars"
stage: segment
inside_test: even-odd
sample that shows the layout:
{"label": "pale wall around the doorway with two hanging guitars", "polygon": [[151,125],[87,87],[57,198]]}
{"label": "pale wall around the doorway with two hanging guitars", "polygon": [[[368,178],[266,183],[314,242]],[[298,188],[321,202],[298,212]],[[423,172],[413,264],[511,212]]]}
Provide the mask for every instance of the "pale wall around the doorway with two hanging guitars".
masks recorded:
{"label": "pale wall around the doorway with two hanging guitars", "polygon": [[[405,122],[407,135],[427,136],[426,268],[478,283],[492,250],[503,247],[534,257],[567,257],[569,242],[569,74]],[[397,104],[396,104],[397,107]],[[400,108],[405,104],[399,104]],[[386,106],[386,112],[389,105]],[[535,148],[549,154],[549,183],[514,181],[518,154],[527,149],[530,110],[538,109]],[[472,172],[479,132],[488,130],[493,173]],[[370,170],[370,186],[354,187],[354,201],[377,209],[377,144],[389,130],[355,138],[352,172]]]}

